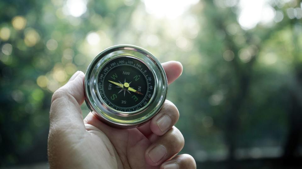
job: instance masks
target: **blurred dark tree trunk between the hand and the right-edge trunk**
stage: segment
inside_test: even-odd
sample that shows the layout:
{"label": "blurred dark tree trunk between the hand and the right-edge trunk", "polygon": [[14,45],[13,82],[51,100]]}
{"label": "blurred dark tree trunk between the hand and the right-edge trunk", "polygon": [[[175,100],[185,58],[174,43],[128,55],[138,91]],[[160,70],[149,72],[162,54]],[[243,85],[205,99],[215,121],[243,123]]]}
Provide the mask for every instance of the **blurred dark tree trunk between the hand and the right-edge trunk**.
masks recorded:
{"label": "blurred dark tree trunk between the hand and the right-edge trunk", "polygon": [[[219,11],[213,1],[208,1],[208,3],[212,8],[216,9],[216,11]],[[223,42],[225,44],[226,50],[231,50],[235,54],[234,59],[231,61],[231,65],[236,77],[236,85],[230,86],[230,92],[225,99],[227,100],[225,107],[228,107],[228,109],[225,110],[226,120],[225,126],[222,128],[222,130],[224,131],[226,146],[228,147],[227,168],[236,169],[238,168],[238,166],[235,163],[235,150],[238,138],[238,128],[240,126],[239,111],[249,92],[249,84],[251,81],[251,75],[253,73],[252,67],[254,64],[255,56],[252,56],[251,60],[248,63],[242,64],[238,56],[239,50],[241,48],[234,42],[233,36],[227,34],[227,25],[225,21],[229,20],[230,18],[231,20],[236,19],[235,13],[230,11],[229,15],[214,15],[210,17],[211,20],[215,23],[215,27],[226,33],[226,37]],[[250,39],[251,37],[248,37],[248,41]]]}

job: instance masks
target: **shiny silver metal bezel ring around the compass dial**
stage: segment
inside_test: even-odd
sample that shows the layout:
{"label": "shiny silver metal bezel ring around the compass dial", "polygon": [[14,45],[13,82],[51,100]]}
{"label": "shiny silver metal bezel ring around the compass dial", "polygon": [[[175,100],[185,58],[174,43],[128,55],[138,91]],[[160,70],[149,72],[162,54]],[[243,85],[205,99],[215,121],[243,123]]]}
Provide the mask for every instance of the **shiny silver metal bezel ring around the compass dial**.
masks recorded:
{"label": "shiny silver metal bezel ring around the compass dial", "polygon": [[[131,57],[145,64],[154,76],[154,93],[147,105],[132,112],[122,112],[108,106],[98,91],[98,76],[110,61]],[[108,125],[133,128],[151,119],[160,110],[167,95],[168,82],[160,62],[147,50],[133,45],[116,45],[103,50],[89,64],[84,81],[85,101],[94,115]]]}

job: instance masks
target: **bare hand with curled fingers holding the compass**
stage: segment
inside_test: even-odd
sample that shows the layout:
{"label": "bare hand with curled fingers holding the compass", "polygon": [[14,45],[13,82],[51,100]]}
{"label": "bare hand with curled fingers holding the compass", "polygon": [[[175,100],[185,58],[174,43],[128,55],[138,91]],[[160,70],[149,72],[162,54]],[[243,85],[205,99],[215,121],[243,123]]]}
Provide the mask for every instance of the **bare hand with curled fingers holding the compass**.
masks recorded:
{"label": "bare hand with curled fingers holding the compass", "polygon": [[[170,61],[162,65],[169,84],[182,73],[179,62]],[[133,129],[112,128],[91,112],[83,120],[80,105],[85,97],[84,76],[83,72],[76,72],[53,94],[48,136],[50,168],[196,168],[192,156],[176,156],[184,146],[184,138],[174,126],[179,112],[173,103],[166,100],[148,123]],[[157,123],[161,117],[168,119],[164,130]],[[162,151],[155,151],[159,149]],[[156,160],[150,156],[155,156]]]}

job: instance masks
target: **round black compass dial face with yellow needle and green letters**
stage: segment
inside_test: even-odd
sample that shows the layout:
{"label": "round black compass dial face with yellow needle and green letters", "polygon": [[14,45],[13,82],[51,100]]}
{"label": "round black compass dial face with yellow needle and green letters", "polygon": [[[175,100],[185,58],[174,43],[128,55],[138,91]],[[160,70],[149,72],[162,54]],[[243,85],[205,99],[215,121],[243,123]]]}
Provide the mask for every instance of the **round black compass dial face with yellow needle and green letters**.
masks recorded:
{"label": "round black compass dial face with yellow needle and green letters", "polygon": [[98,91],[103,101],[115,110],[140,110],[152,98],[154,76],[140,60],[120,57],[111,60],[101,70]]}

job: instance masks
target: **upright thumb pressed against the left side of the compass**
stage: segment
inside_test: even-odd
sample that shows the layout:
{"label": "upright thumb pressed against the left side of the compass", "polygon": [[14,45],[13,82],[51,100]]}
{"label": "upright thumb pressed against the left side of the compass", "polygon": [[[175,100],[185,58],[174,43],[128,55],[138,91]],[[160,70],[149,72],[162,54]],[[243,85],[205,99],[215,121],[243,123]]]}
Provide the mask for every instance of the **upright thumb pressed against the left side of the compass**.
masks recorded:
{"label": "upright thumb pressed against the left side of the compass", "polygon": [[50,106],[50,129],[82,130],[85,126],[81,104],[84,101],[85,74],[77,71],[70,80],[53,93]]}

